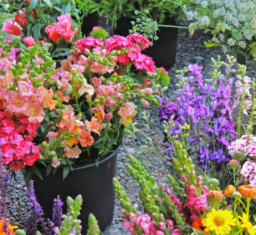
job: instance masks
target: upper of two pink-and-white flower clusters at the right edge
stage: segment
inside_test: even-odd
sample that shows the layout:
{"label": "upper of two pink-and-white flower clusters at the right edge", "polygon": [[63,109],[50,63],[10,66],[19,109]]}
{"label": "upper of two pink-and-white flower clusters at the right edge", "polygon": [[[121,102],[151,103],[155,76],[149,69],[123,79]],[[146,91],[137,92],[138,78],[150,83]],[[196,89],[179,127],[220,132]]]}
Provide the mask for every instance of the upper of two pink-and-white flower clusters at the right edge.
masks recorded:
{"label": "upper of two pink-and-white flower clusters at the right edge", "polygon": [[247,137],[247,135],[243,135],[241,138],[233,141],[230,144],[230,146],[228,146],[228,153],[231,156],[234,156],[236,154],[247,156],[247,157],[255,156],[256,155],[256,137],[253,135],[251,135],[250,137]]}

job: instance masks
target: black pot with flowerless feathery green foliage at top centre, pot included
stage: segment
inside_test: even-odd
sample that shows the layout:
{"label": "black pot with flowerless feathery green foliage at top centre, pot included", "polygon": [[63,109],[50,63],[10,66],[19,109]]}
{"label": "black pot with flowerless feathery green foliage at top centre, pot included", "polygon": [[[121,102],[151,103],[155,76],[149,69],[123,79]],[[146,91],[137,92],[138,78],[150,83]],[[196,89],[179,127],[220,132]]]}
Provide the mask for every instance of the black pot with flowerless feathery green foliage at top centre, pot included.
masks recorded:
{"label": "black pot with flowerless feathery green foliage at top centre, pot included", "polygon": [[[114,34],[126,36],[131,33],[133,29],[132,21],[136,22],[137,18],[145,21],[148,14],[153,22],[158,22],[160,25],[171,25],[172,28],[166,29],[159,27],[158,37],[156,37],[155,26],[143,25],[143,31],[134,28],[133,33],[142,33],[154,44],[149,47],[145,53],[151,56],[156,62],[156,66],[163,66],[169,69],[175,62],[176,55],[176,42],[178,34],[177,21],[182,18],[182,7],[187,4],[188,0],[170,1],[170,0],[136,0],[136,1],[114,1],[114,0],[101,0],[90,1],[87,6],[87,11],[98,9],[98,14],[106,16],[107,23],[110,21],[114,30]],[[147,13],[145,17],[144,13]],[[134,14],[136,13],[136,14]],[[138,22],[137,24],[141,24]],[[148,22],[146,22],[148,23]],[[142,23],[143,24],[143,23]],[[138,28],[137,28],[138,29]],[[148,31],[150,34],[148,35]],[[154,31],[154,33],[152,33]],[[156,40],[158,38],[158,40]]]}

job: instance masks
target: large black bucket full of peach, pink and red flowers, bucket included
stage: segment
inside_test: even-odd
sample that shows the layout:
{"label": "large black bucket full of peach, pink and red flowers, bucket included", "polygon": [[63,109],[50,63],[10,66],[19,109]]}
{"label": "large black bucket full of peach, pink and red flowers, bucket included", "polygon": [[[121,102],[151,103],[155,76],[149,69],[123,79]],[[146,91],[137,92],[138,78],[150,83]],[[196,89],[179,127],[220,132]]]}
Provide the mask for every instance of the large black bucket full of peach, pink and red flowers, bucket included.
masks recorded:
{"label": "large black bucket full of peach, pink and red flowers, bucket included", "polygon": [[[169,77],[142,54],[149,46],[142,35],[106,39],[100,27],[92,35],[78,40],[57,70],[49,44],[2,44],[0,148],[4,165],[23,169],[26,182],[33,178],[46,216],[52,198],[81,194],[83,227],[94,213],[104,229],[113,218],[123,126],[137,106],[159,103]],[[18,142],[9,142],[14,135]]]}

